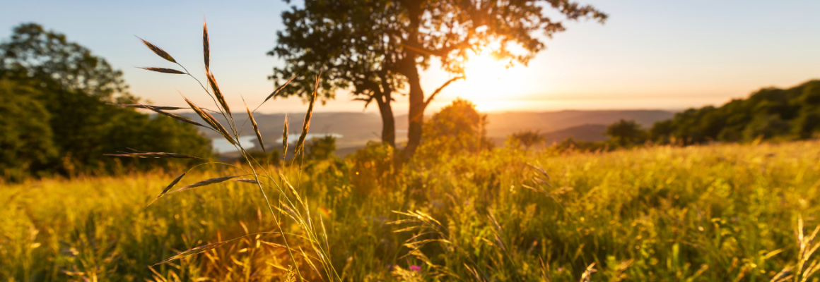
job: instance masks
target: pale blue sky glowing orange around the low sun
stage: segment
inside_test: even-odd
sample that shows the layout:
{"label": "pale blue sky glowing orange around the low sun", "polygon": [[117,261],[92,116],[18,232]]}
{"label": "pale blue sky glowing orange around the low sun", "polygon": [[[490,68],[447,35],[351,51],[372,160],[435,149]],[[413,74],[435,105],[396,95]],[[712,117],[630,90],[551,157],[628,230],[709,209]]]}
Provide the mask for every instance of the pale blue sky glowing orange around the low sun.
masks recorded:
{"label": "pale blue sky glowing orange around the low sun", "polygon": [[[816,0],[581,0],[610,16],[567,22],[545,40],[527,66],[504,69],[485,61],[467,80],[446,87],[428,108],[457,97],[485,112],[652,109],[722,105],[761,87],[790,87],[820,78],[820,1]],[[282,28],[281,1],[9,1],[0,0],[0,40],[24,22],[66,34],[125,72],[130,92],[155,105],[185,105],[180,92],[205,104],[191,78],[136,66],[173,67],[139,36],[171,53],[204,78],[202,21],[211,38],[211,69],[232,108],[244,96],[255,106],[270,94],[267,79],[281,65],[267,56]],[[430,93],[449,79],[435,64],[421,74]],[[361,101],[339,92],[321,112],[362,111]],[[394,103],[407,112],[406,97]],[[268,101],[263,113],[299,113],[298,98]],[[367,109],[376,112],[375,105]]]}

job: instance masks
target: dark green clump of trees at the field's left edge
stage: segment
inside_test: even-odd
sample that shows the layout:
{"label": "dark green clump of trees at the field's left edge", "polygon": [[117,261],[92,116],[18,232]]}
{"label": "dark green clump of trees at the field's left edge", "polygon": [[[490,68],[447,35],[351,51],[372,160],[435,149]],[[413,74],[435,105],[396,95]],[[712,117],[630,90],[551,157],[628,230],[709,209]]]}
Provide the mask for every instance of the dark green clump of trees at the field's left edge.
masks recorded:
{"label": "dark green clump of trees at the field's left edge", "polygon": [[120,70],[37,24],[0,43],[0,178],[105,173],[163,160],[112,159],[142,150],[211,155],[193,126],[141,114]]}

